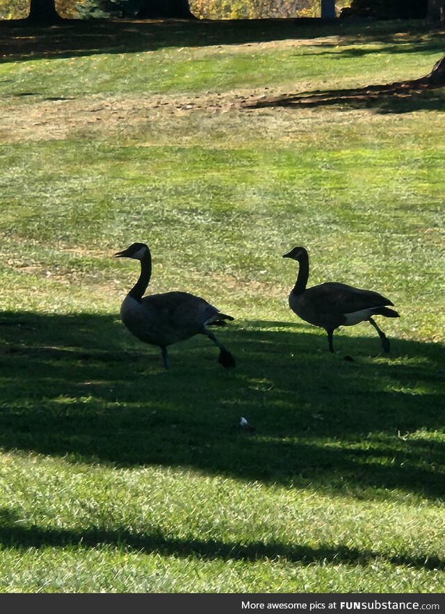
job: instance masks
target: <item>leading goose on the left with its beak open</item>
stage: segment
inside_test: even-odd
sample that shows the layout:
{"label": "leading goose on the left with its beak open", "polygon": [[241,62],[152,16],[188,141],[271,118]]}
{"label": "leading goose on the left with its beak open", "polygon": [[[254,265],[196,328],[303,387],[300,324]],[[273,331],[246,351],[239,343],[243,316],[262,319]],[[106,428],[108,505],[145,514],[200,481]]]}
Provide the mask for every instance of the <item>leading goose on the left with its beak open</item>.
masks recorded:
{"label": "leading goose on the left with its beak open", "polygon": [[145,243],[132,243],[126,250],[116,252],[115,257],[140,261],[139,279],[122,302],[120,318],[140,341],[161,348],[165,369],[168,369],[167,347],[195,334],[205,334],[213,341],[220,350],[218,362],[226,369],[236,366],[232,354],[207,328],[223,326],[225,320],[234,319],[232,316],[187,292],[143,296],[152,276],[152,254]]}

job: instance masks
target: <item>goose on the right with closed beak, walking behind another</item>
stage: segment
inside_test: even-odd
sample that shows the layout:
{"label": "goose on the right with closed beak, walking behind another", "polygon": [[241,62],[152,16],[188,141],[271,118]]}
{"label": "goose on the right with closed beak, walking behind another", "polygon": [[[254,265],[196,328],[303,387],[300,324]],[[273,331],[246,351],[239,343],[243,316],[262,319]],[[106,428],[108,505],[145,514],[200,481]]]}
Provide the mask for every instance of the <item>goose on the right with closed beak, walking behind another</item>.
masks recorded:
{"label": "goose on the right with closed beak, walking behind another", "polygon": [[364,321],[373,325],[380,337],[382,350],[385,353],[389,352],[389,340],[372,318],[372,316],[400,317],[394,309],[385,307],[385,305],[394,305],[389,298],[372,290],[361,290],[337,282],[306,288],[309,277],[307,250],[300,247],[293,248],[284,254],[283,258],[291,258],[299,264],[297,281],[289,294],[289,307],[302,320],[325,329],[331,352],[334,351],[332,339],[336,328]]}

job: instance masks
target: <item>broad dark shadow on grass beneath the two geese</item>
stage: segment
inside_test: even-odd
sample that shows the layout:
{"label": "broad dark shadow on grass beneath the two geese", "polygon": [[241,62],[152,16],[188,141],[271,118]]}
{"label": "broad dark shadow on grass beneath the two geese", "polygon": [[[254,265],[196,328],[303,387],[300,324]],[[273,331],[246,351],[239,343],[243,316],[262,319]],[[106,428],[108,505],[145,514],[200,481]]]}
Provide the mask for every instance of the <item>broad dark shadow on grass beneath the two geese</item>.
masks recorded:
{"label": "broad dark shadow on grass beneath the two geese", "polygon": [[[341,355],[330,355],[314,328],[231,324],[218,337],[236,369],[195,337],[170,350],[164,371],[156,348],[133,343],[112,316],[3,313],[0,446],[364,499],[392,490],[440,498],[444,348],[392,339],[391,358],[378,358],[380,341],[366,331],[337,332]],[[241,417],[255,430],[242,430]]]}

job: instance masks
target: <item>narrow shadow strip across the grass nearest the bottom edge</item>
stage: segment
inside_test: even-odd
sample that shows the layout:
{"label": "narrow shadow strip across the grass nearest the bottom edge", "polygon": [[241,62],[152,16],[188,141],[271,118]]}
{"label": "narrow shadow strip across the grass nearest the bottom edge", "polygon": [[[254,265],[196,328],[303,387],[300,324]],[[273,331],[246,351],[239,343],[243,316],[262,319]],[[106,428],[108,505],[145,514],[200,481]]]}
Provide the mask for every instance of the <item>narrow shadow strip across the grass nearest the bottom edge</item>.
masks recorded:
{"label": "narrow shadow strip across the grass nearest the bottom edge", "polygon": [[127,530],[110,531],[100,527],[86,531],[70,531],[67,529],[42,529],[38,526],[19,526],[16,515],[8,508],[0,509],[0,544],[14,548],[41,547],[97,547],[109,544],[113,547],[135,549],[138,553],[157,553],[161,556],[199,556],[204,560],[222,558],[225,560],[261,559],[286,560],[291,563],[336,563],[346,565],[370,565],[376,559],[385,559],[392,565],[401,565],[414,569],[445,569],[445,560],[437,556],[385,556],[381,551],[350,548],[343,544],[332,546],[323,544],[318,548],[306,545],[289,545],[263,542],[239,544],[238,542],[223,542],[220,540],[179,539],[163,535],[160,531],[154,533],[131,533]]}

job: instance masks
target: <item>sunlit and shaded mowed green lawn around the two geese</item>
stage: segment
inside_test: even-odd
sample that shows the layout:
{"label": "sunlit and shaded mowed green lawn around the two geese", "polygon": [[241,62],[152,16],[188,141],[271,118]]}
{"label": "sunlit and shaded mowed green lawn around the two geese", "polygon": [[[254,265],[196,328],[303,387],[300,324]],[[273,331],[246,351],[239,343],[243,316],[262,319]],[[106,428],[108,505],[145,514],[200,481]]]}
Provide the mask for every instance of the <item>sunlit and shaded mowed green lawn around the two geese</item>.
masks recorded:
{"label": "sunlit and shaded mowed green lawn around the two geese", "polygon": [[[1,34],[0,591],[444,592],[444,89],[248,106],[416,78],[443,33]],[[234,316],[236,369],[124,329],[133,241]],[[394,302],[389,357],[289,310],[294,245]]]}

